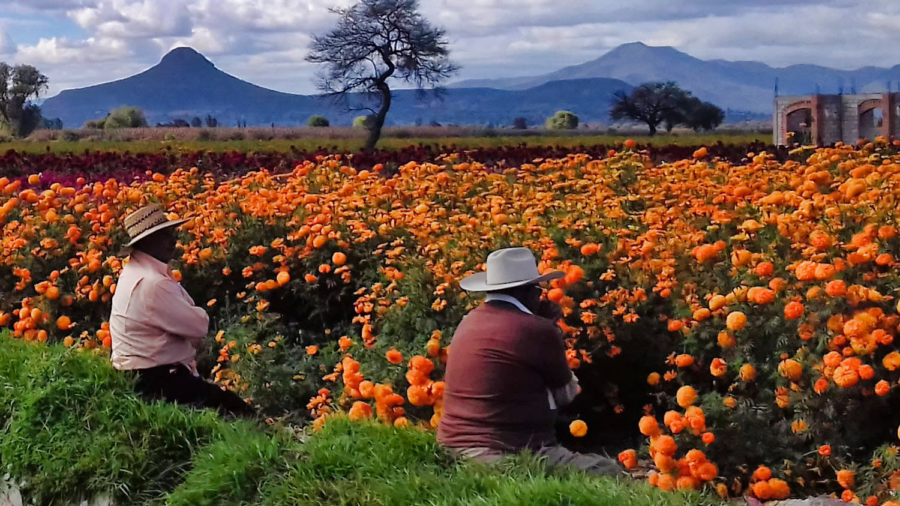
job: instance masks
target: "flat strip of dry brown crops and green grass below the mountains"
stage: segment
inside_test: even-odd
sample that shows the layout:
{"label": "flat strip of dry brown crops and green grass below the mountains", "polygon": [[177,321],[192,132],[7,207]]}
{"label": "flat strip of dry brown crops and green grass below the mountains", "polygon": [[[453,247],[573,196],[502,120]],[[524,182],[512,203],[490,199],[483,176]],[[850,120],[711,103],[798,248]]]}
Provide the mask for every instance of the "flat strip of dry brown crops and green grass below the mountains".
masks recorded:
{"label": "flat strip of dry brown crops and green grass below the mountains", "polygon": [[[170,131],[171,130],[171,131]],[[80,133],[79,133],[80,132]],[[241,152],[282,152],[292,149],[317,151],[327,149],[336,153],[354,153],[362,149],[364,137],[358,130],[341,128],[317,129],[131,129],[113,132],[76,131],[69,135],[57,133],[50,140],[45,134],[35,134],[23,141],[4,142],[0,150],[15,149],[30,153],[80,153],[84,150],[111,152],[147,153],[157,152],[167,147],[183,151],[241,151]],[[84,134],[82,136],[82,133]],[[204,135],[201,135],[204,134]],[[168,139],[168,140],[166,140]],[[722,142],[729,145],[746,145],[752,142],[771,143],[770,133],[715,132],[708,134],[679,133],[673,135],[600,134],[598,131],[576,131],[571,133],[541,130],[471,130],[471,129],[430,129],[428,127],[388,129],[378,147],[385,150],[402,149],[408,146],[431,145],[435,147],[454,146],[459,149],[491,148],[501,146],[558,146],[575,148],[579,146],[613,146],[616,142],[634,139],[639,144],[654,146],[678,145],[701,146]]]}

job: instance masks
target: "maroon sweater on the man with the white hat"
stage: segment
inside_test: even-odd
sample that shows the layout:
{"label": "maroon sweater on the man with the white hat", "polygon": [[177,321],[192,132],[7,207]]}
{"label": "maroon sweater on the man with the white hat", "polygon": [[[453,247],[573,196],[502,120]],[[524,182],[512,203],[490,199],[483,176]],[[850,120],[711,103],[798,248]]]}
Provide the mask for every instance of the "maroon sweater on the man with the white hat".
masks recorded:
{"label": "maroon sweater on the man with the white hat", "polygon": [[469,313],[451,342],[438,441],[449,448],[556,444],[547,389],[572,379],[559,328],[511,304]]}

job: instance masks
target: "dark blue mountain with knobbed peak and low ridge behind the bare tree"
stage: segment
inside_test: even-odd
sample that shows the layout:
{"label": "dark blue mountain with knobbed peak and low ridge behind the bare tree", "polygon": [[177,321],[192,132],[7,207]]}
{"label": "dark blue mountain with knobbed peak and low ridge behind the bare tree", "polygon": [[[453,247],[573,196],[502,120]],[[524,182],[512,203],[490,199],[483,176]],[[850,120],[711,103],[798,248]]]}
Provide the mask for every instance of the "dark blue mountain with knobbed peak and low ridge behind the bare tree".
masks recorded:
{"label": "dark blue mountain with knobbed peak and low ridge behind the bare tree", "polygon": [[[620,80],[588,78],[543,82],[517,90],[452,89],[442,100],[418,100],[414,90],[398,90],[388,123],[506,126],[521,116],[533,125],[561,109],[575,112],[585,122],[604,122],[613,93],[630,89],[631,85]],[[248,126],[296,126],[321,114],[332,124],[349,125],[361,114],[346,112],[321,97],[281,93],[242,81],[217,69],[193,49],[178,48],[135,76],[48,98],[43,115],[59,117],[66,127],[77,128],[123,105],[143,109],[151,124],[211,115],[223,126],[239,120]]]}

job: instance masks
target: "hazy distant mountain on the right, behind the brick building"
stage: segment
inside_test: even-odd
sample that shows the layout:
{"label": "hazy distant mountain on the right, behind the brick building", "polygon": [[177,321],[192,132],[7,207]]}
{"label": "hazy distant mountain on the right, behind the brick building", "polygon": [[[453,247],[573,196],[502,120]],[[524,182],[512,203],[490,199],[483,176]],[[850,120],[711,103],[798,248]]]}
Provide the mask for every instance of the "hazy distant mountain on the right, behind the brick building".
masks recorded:
{"label": "hazy distant mountain on the right, behind the brick building", "polygon": [[[533,77],[468,80],[451,87],[488,87],[518,90],[559,79],[612,78],[633,86],[648,81],[675,81],[703,100],[722,108],[772,113],[776,81],[782,95],[816,92],[882,92],[888,81],[900,79],[900,65],[886,69],[864,67],[837,70],[818,65],[774,68],[759,62],[701,60],[672,47],[652,47],[641,42],[621,45],[600,58]],[[900,88],[895,88],[900,89]]]}

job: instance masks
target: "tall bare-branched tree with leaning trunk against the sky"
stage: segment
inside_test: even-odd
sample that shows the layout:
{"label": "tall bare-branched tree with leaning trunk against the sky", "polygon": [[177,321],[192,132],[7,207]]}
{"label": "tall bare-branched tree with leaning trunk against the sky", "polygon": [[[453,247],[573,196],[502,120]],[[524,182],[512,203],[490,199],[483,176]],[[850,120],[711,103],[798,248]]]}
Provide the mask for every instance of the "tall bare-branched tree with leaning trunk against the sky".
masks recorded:
{"label": "tall bare-branched tree with leaning trunk against the sky", "polygon": [[[347,9],[332,9],[338,26],[316,36],[306,57],[325,64],[319,89],[349,110],[368,110],[373,120],[366,149],[375,148],[391,108],[391,79],[414,84],[421,96],[459,67],[450,59],[449,42],[442,28],[432,26],[418,12],[418,0],[360,0]],[[361,107],[356,94],[377,104]]]}

